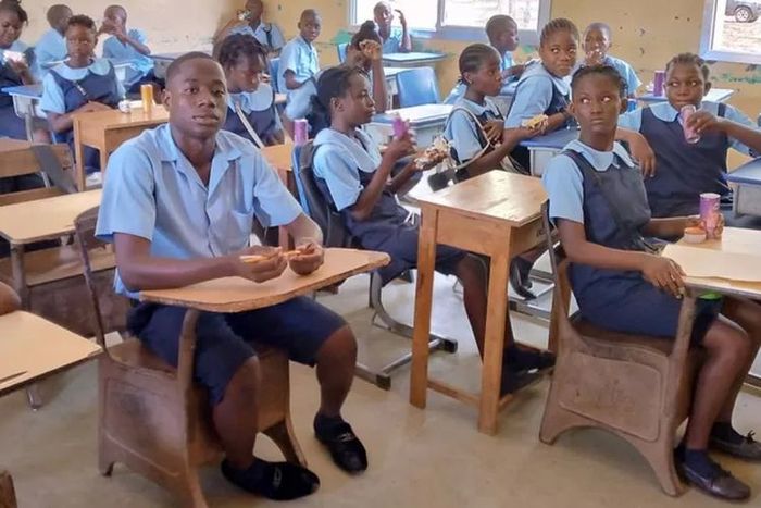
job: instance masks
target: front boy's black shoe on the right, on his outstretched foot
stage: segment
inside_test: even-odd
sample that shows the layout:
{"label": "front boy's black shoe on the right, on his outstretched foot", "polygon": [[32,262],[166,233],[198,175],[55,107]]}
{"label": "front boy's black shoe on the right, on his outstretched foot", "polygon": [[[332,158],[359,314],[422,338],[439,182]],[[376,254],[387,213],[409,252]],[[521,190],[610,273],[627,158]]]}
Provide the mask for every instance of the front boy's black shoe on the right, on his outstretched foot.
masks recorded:
{"label": "front boy's black shoe on the right, on his outstretched foot", "polygon": [[367,451],[354,431],[340,417],[314,418],[314,435],[330,453],[333,461],[349,474],[367,469]]}

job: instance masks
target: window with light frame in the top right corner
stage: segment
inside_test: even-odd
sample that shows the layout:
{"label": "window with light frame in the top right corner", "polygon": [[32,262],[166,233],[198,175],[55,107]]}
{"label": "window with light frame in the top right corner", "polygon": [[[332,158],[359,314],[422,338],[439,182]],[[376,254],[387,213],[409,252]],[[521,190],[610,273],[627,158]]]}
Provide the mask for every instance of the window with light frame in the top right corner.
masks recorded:
{"label": "window with light frame in the top right corner", "polygon": [[707,0],[700,54],[707,60],[761,63],[761,0]]}

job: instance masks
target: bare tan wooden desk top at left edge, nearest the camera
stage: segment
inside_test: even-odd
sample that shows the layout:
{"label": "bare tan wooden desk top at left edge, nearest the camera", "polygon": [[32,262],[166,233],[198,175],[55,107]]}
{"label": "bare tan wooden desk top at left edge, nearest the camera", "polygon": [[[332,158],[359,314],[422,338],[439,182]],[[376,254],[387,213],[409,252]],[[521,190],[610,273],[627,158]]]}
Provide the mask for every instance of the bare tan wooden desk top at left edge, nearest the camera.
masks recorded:
{"label": "bare tan wooden desk top at left edge, nearest the camera", "polygon": [[100,347],[24,311],[0,315],[0,395],[83,362]]}

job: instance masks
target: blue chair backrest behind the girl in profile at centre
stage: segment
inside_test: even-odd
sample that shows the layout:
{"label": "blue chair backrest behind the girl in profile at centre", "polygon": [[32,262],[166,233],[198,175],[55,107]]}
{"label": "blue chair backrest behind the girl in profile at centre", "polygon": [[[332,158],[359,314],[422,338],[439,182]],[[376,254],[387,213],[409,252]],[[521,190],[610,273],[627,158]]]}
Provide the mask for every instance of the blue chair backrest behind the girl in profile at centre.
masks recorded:
{"label": "blue chair backrest behind the girl in profile at centre", "polygon": [[294,176],[301,208],[322,230],[326,247],[348,247],[351,236],[344,225],[344,218],[317,184],[312,166],[313,156],[312,141],[294,148]]}

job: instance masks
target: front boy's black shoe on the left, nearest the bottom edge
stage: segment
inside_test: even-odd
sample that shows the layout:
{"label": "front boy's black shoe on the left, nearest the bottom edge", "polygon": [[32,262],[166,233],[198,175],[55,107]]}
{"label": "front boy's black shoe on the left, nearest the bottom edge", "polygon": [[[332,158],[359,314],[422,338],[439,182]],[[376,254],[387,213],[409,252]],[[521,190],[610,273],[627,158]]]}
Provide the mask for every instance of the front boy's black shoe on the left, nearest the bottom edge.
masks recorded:
{"label": "front boy's black shoe on the left, nearest the bottom edge", "polygon": [[320,479],[307,468],[290,462],[267,462],[261,459],[248,469],[234,468],[226,459],[220,467],[233,485],[274,500],[291,500],[308,496],[320,487]]}

